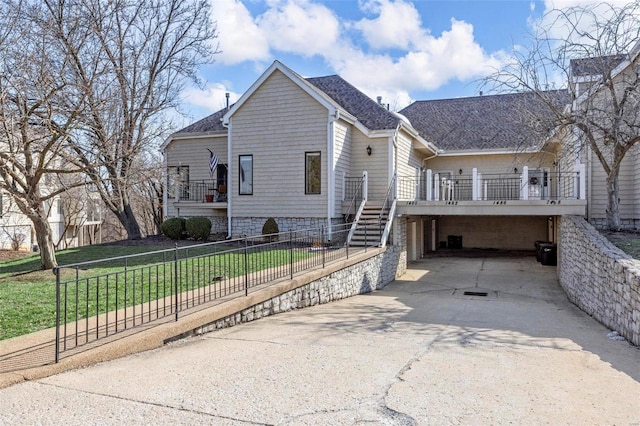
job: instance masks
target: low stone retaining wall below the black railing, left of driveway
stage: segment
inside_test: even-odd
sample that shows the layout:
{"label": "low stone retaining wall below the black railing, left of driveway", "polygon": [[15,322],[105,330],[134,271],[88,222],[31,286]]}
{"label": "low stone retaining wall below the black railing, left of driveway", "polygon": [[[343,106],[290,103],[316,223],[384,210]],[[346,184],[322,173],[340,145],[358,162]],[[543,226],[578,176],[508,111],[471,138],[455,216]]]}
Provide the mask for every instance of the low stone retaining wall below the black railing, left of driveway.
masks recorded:
{"label": "low stone retaining wall below the black railing, left of driveway", "polygon": [[[277,296],[249,306],[240,312],[221,318],[194,330],[196,334],[231,327],[280,312],[345,299],[357,294],[381,289],[406,271],[406,263],[400,260],[404,251],[398,246],[388,246],[373,257],[354,263],[292,288]],[[406,259],[406,257],[404,257]]]}

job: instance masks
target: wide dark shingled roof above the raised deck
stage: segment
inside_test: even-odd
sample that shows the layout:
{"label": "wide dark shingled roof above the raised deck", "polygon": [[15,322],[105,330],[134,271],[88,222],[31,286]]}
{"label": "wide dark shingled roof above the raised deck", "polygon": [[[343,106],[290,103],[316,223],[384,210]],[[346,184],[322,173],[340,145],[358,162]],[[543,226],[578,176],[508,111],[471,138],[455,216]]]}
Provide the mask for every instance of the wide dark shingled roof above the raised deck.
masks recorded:
{"label": "wide dark shingled roof above the raised deck", "polygon": [[[558,106],[569,102],[564,90],[544,94]],[[445,151],[535,147],[552,124],[550,109],[534,93],[417,101],[400,114]]]}

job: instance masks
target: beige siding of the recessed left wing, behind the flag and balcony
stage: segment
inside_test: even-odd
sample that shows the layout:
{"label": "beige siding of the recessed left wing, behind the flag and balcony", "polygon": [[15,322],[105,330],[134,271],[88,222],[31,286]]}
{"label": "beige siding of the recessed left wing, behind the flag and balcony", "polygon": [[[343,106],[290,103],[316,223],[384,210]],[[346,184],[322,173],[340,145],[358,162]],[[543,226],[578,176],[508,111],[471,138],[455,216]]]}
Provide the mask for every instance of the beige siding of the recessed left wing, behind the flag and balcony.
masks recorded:
{"label": "beige siding of the recessed left wing, behind the flag and balcony", "polygon": [[[189,166],[189,181],[209,181],[209,151],[210,149],[219,158],[220,164],[227,163],[227,136],[178,139],[172,141],[166,148],[167,167],[173,166]],[[165,177],[166,178],[166,177]],[[214,174],[214,179],[216,175]],[[189,210],[180,208],[176,209],[173,199],[167,200],[167,217],[174,216],[226,216],[223,210],[209,212],[206,214],[201,209]]]}

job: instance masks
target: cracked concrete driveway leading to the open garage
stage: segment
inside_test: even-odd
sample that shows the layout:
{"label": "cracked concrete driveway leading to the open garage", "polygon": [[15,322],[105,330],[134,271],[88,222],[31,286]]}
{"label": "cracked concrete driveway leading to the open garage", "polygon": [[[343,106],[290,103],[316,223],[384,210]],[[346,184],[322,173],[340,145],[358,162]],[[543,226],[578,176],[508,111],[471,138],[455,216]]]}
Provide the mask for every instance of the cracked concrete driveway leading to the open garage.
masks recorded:
{"label": "cracked concrete driveway leading to the open garage", "polygon": [[609,331],[533,258],[433,258],[383,291],[2,389],[0,424],[639,425],[640,351]]}

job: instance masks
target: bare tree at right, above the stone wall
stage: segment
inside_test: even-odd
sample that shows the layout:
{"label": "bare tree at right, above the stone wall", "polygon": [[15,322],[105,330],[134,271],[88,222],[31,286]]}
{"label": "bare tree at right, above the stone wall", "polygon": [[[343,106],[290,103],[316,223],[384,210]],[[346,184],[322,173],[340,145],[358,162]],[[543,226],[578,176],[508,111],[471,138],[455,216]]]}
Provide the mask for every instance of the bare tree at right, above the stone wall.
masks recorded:
{"label": "bare tree at right, above the stone wall", "polygon": [[[553,10],[542,22],[531,46],[515,49],[485,85],[534,93],[551,112],[536,125],[574,138],[565,153],[593,152],[606,174],[607,226],[619,229],[620,166],[640,142],[640,3]],[[568,105],[554,102],[553,87],[566,89]]]}

